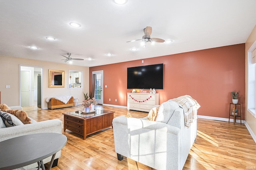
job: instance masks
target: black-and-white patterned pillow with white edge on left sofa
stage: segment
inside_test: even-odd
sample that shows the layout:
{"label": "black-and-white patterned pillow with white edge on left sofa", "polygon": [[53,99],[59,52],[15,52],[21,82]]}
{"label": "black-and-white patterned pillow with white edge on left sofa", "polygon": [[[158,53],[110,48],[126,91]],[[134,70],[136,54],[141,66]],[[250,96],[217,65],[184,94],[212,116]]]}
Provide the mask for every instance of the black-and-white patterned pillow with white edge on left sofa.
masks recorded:
{"label": "black-and-white patterned pillow with white edge on left sofa", "polygon": [[24,125],[17,117],[10,113],[0,111],[0,117],[2,118],[2,121],[4,122],[6,127]]}

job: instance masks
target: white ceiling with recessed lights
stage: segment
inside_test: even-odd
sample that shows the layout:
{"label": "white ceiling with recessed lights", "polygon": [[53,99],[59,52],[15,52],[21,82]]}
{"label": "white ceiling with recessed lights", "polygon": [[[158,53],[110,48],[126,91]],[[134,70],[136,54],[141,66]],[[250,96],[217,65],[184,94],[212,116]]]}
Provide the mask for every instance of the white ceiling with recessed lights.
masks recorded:
{"label": "white ceiling with recessed lights", "polygon": [[[0,22],[0,55],[64,63],[60,54],[71,53],[85,59],[74,65],[98,66],[245,43],[256,0],[0,0]],[[173,42],[126,43],[141,39],[146,26],[151,37]]]}

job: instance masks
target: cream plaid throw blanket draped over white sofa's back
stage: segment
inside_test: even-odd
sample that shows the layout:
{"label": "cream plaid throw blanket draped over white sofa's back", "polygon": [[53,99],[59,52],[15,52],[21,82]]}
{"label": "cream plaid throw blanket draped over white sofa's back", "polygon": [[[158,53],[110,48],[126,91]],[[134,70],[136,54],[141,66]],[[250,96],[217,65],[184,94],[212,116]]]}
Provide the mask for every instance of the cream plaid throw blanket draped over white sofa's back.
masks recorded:
{"label": "cream plaid throw blanket draped over white sofa's back", "polygon": [[184,110],[185,126],[190,127],[190,124],[196,119],[197,110],[200,105],[191,96],[185,95],[172,99],[172,101],[178,103]]}

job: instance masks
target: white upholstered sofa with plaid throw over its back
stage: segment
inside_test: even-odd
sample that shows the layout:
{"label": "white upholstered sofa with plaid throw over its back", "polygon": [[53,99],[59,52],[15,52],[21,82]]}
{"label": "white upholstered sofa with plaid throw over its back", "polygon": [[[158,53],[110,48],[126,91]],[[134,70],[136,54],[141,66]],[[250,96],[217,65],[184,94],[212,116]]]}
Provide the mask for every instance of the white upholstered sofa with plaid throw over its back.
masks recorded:
{"label": "white upholstered sofa with plaid throw over its back", "polygon": [[118,160],[126,156],[157,170],[182,170],[196,139],[196,112],[200,105],[196,102],[186,113],[180,106],[173,100],[164,102],[156,121],[115,117],[112,123]]}

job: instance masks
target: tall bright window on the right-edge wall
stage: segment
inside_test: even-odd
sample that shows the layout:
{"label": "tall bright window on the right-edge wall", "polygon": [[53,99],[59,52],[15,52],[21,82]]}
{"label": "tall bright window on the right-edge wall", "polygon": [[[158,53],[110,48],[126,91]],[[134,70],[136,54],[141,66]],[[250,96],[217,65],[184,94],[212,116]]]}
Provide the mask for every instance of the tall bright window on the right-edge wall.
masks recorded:
{"label": "tall bright window on the right-edge wall", "polygon": [[248,111],[256,117],[256,63],[255,63],[255,48],[256,41],[248,50],[248,94],[247,94],[247,108]]}

